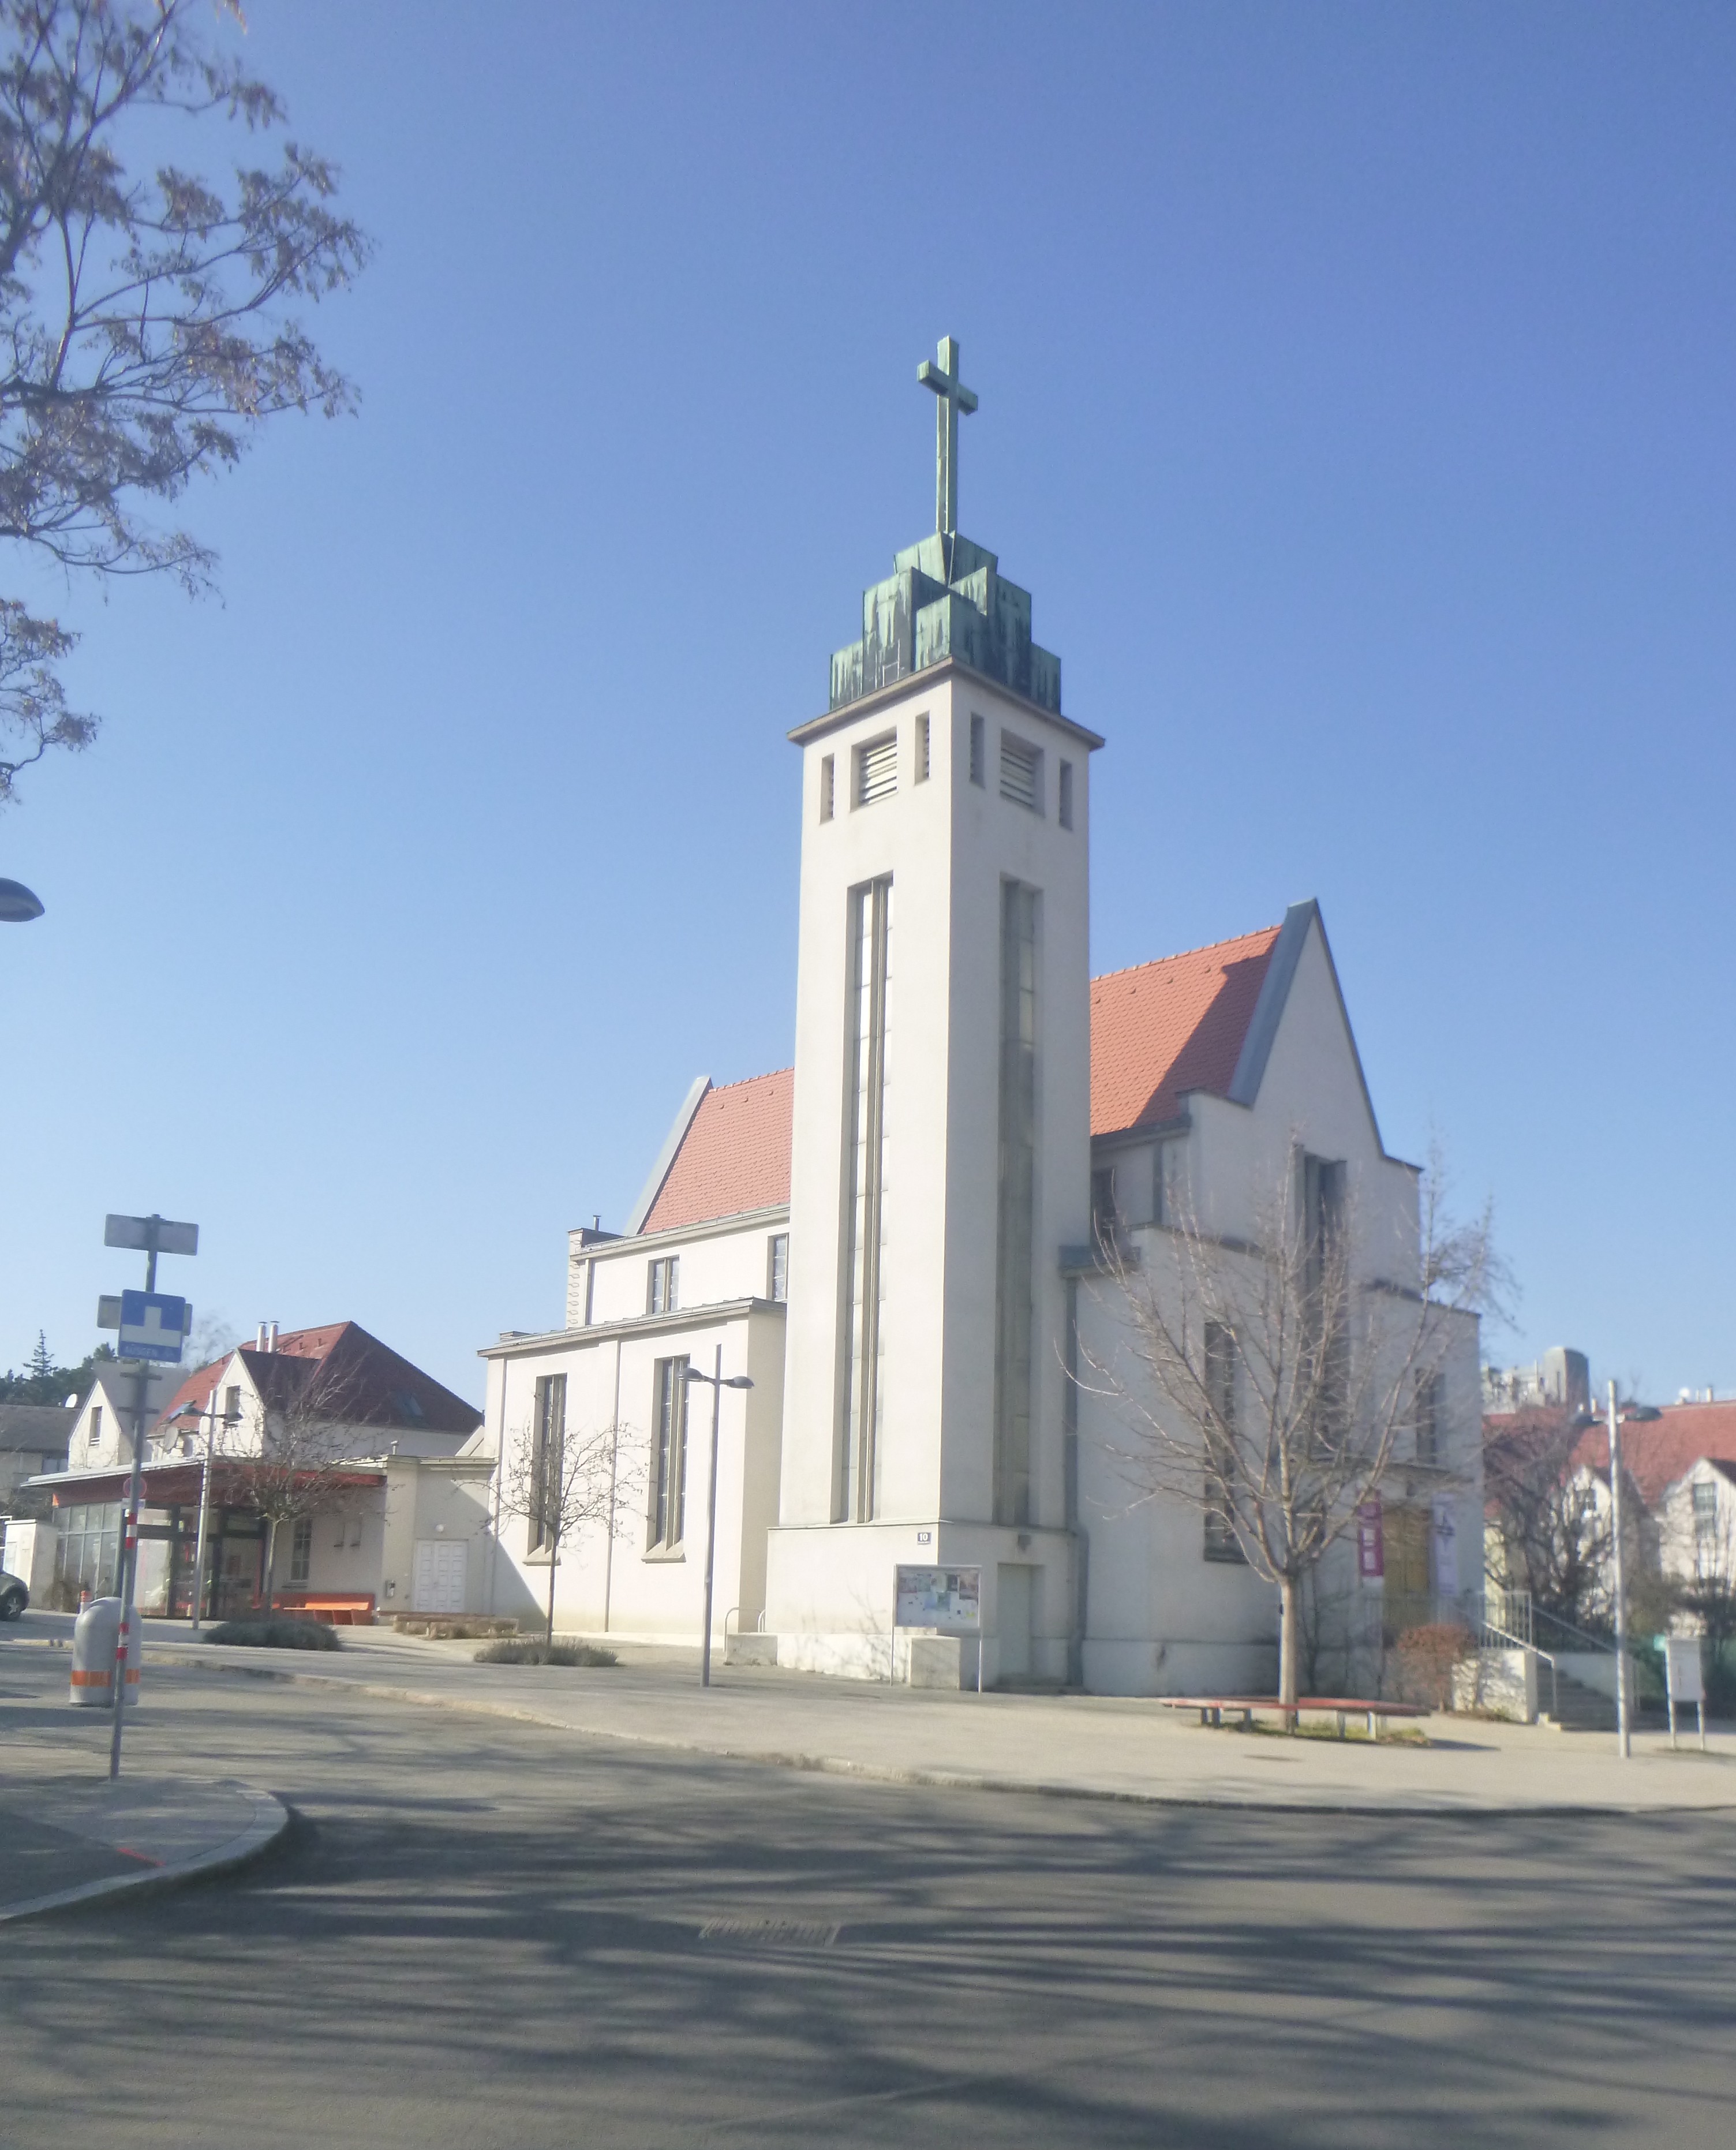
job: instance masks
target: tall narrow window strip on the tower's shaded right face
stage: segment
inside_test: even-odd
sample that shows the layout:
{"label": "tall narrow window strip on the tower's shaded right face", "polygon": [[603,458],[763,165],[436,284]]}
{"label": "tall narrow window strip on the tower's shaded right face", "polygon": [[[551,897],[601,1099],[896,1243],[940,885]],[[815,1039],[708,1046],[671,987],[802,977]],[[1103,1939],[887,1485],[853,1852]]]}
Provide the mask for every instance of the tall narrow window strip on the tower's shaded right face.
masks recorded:
{"label": "tall narrow window strip on the tower's shaded right face", "polygon": [[1038,1170],[1038,892],[1021,882],[1001,882],[999,1107],[995,1522],[1029,1522],[1031,1258]]}

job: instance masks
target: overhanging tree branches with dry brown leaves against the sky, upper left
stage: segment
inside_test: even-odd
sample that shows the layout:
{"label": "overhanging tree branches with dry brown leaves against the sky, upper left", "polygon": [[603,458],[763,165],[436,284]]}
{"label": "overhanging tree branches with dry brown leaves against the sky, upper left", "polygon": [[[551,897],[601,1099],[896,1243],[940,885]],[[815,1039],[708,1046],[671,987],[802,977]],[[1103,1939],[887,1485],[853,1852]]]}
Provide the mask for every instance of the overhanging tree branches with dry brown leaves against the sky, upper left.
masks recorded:
{"label": "overhanging tree branches with dry brown leaves against the sky, upper left", "polygon": [[[333,168],[294,142],[228,187],[127,170],[127,138],[159,138],[165,116],[284,120],[273,90],[206,49],[204,13],[241,22],[234,0],[0,0],[0,538],[189,591],[213,553],[133,503],[228,469],[266,417],[352,406],[286,307],[367,258],[331,206]],[[0,804],[19,770],[97,733],[56,673],[73,643],[0,600]]]}

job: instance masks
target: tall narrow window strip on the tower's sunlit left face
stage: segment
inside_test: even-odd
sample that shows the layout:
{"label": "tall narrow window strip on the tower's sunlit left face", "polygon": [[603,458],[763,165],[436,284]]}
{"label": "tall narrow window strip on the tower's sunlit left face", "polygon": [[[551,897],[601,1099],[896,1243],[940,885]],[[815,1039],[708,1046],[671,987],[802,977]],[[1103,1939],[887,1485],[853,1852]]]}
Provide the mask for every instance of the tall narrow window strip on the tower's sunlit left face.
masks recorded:
{"label": "tall narrow window strip on the tower's sunlit left face", "polygon": [[836,1522],[874,1514],[885,1421],[885,1109],[892,1084],[892,875],[851,890],[851,1041],[844,1146],[844,1352]]}

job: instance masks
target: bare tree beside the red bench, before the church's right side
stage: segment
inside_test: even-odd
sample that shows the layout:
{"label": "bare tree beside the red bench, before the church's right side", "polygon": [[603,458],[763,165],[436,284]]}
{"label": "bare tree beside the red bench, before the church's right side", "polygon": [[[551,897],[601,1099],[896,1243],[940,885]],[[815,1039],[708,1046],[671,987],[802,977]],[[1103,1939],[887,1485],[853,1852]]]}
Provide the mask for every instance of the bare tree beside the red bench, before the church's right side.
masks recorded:
{"label": "bare tree beside the red bench, before the church's right side", "polygon": [[1401,1436],[1431,1438],[1452,1322],[1489,1307],[1504,1271],[1489,1213],[1448,1215],[1437,1155],[1414,1279],[1362,1273],[1345,1167],[1300,1144],[1255,1206],[1253,1241],[1180,1208],[1139,1268],[1102,1238],[1139,1372],[1091,1367],[1124,1406],[1132,1440],[1117,1456],[1137,1494],[1195,1509],[1227,1557],[1276,1585],[1278,1698],[1293,1703],[1302,1585],[1356,1526]]}

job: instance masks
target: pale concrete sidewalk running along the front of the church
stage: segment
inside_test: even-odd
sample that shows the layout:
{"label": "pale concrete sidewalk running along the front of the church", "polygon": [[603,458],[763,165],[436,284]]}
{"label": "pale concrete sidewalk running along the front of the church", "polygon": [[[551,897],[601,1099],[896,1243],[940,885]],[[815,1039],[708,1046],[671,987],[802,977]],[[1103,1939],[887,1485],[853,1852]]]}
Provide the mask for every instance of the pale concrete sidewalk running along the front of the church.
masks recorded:
{"label": "pale concrete sidewalk running along the front of the church", "polygon": [[[473,1643],[346,1632],[331,1656],[221,1649],[150,1623],[150,1666],[339,1681],[380,1698],[483,1711],[593,1739],[827,1769],[887,1782],[1072,1797],[1326,1810],[1523,1812],[1736,1808],[1736,1731],[1702,1754],[1635,1737],[1474,1718],[1424,1720],[1427,1746],[1207,1731],[1149,1701],[1091,1694],[945,1694],[804,1673],[713,1668],[696,1649],[610,1640],[602,1671],[475,1664]],[[288,1662],[286,1662],[288,1660]]]}

